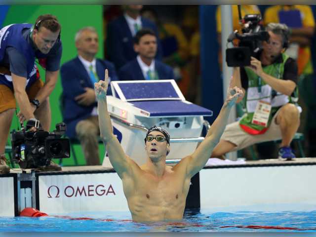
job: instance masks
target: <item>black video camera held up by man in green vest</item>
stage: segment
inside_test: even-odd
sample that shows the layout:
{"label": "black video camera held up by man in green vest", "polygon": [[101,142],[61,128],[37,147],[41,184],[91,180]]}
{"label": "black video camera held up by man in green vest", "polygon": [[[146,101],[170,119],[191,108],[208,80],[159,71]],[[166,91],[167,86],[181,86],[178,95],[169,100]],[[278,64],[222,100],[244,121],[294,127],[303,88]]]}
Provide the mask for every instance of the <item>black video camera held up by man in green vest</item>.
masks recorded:
{"label": "black video camera held up by man in green vest", "polygon": [[268,41],[270,35],[263,30],[261,15],[245,15],[242,19],[242,34],[233,32],[228,42],[240,40],[238,47],[226,49],[226,63],[229,67],[244,67],[250,65],[251,56],[254,57],[262,49],[262,41]]}

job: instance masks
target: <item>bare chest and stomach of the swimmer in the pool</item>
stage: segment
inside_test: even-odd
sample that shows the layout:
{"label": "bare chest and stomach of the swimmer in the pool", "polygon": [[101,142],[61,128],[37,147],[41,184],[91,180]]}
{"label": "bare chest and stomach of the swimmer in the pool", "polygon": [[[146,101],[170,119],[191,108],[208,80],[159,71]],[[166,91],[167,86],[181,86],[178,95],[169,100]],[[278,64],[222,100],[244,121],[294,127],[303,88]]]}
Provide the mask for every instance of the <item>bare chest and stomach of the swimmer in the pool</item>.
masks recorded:
{"label": "bare chest and stomach of the swimmer in the pool", "polygon": [[181,220],[191,179],[179,165],[165,166],[161,177],[146,164],[133,165],[133,177],[122,179],[134,221]]}

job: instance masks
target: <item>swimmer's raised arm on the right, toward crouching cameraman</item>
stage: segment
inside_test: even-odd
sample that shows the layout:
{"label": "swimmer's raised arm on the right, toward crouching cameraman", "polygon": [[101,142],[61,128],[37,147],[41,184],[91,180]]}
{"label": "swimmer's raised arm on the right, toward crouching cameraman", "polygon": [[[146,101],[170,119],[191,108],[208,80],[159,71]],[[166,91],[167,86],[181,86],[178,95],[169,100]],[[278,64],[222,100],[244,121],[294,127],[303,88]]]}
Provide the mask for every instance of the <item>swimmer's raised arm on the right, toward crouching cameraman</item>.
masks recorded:
{"label": "swimmer's raised arm on the right, toward crouching cameraman", "polygon": [[242,96],[242,90],[237,86],[232,88],[231,84],[232,80],[222,109],[208,130],[204,141],[201,142],[201,144],[197,147],[197,150],[191,156],[183,158],[177,164],[179,166],[186,166],[186,173],[190,178],[200,171],[204,167],[208,158],[210,158],[214,147],[219,142],[228,123],[231,108],[235,105],[237,99]]}

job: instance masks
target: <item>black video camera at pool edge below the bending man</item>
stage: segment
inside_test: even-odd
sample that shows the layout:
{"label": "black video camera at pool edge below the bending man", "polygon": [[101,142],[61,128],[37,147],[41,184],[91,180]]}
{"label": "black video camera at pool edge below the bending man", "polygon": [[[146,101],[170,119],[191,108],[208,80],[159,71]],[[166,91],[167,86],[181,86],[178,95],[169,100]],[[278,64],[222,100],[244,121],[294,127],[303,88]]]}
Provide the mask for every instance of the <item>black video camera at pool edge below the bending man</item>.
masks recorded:
{"label": "black video camera at pool edge below the bending man", "polygon": [[41,128],[37,131],[11,132],[12,155],[21,168],[38,168],[47,166],[52,158],[69,158],[69,139],[61,138],[66,131],[65,123],[56,124],[56,130],[47,132]]}

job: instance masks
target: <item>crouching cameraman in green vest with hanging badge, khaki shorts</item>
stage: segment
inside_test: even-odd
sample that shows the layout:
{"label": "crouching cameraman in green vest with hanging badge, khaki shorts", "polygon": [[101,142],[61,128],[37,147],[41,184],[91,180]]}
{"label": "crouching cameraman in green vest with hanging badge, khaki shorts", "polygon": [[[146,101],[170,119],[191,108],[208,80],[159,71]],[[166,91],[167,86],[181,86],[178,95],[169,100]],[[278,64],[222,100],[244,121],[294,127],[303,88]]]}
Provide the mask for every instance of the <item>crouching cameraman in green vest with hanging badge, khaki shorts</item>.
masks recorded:
{"label": "crouching cameraman in green vest with hanging badge, khaki shorts", "polygon": [[300,124],[301,108],[295,103],[297,94],[297,64],[284,54],[288,43],[288,28],[270,23],[266,27],[270,39],[262,41],[262,50],[251,57],[250,66],[235,67],[233,85],[242,87],[245,114],[226,126],[211,157],[237,151],[264,141],[282,139],[278,156],[282,160],[295,158],[290,143]]}

